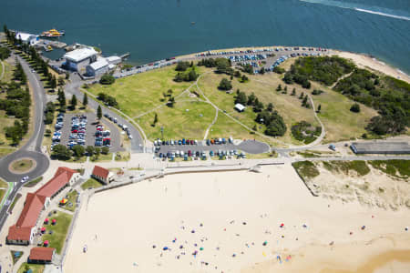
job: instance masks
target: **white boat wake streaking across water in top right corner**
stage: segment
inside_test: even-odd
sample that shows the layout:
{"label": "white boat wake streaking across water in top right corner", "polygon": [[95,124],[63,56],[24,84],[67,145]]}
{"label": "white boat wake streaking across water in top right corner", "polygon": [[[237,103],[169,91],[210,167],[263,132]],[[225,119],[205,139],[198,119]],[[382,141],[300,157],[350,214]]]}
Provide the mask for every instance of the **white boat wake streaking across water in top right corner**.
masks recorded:
{"label": "white boat wake streaking across water in top right corner", "polygon": [[[353,9],[355,11],[362,12],[362,13],[367,13],[367,14],[372,14],[372,15],[381,15],[381,16],[391,17],[395,19],[410,21],[410,16],[395,15],[393,10],[389,10],[389,9],[382,8],[382,7],[364,6],[364,5],[357,5],[354,3],[339,2],[339,1],[333,1],[333,0],[299,0],[299,1],[306,2],[306,3],[320,4],[320,5],[337,6],[337,7],[347,8],[347,9]],[[379,11],[376,11],[374,9],[378,9]],[[385,12],[382,12],[382,10],[384,10]]]}

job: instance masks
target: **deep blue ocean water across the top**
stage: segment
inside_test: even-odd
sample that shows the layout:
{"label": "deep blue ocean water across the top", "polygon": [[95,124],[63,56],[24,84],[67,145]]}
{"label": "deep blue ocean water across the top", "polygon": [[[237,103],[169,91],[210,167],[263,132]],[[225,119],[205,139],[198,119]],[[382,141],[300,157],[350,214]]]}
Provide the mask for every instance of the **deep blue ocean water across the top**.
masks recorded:
{"label": "deep blue ocean water across the top", "polygon": [[[0,24],[147,63],[245,45],[367,53],[410,73],[409,0],[5,0]],[[194,25],[191,22],[195,22]]]}

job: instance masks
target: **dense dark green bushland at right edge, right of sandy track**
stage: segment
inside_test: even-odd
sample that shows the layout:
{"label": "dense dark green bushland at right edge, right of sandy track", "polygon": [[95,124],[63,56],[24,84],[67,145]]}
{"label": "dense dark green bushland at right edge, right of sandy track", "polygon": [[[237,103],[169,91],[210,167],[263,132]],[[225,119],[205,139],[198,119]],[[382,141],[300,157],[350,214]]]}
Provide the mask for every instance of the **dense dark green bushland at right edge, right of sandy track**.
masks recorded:
{"label": "dense dark green bushland at right edge, right of sandy track", "polygon": [[[356,68],[333,89],[377,110],[379,116],[366,126],[376,135],[400,134],[410,126],[410,84],[404,81]],[[352,106],[351,111],[360,111],[360,106]]]}

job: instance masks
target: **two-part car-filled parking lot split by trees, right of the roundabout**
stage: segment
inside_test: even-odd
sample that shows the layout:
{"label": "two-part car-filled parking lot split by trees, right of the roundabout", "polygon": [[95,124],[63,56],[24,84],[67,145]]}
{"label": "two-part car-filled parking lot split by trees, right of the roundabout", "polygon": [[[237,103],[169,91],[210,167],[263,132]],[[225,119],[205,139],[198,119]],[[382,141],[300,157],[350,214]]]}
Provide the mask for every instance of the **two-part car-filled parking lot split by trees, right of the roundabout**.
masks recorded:
{"label": "two-part car-filled parking lot split by trees, right of the roundabout", "polygon": [[[83,121],[84,123],[86,123],[86,120],[87,120],[87,124],[84,126],[81,126],[81,129],[79,128],[77,129],[77,131],[74,131],[75,128],[72,127],[73,116],[78,117],[78,119],[76,119],[78,120],[78,122]],[[72,143],[71,145],[73,145],[73,143],[74,144],[77,143],[84,147],[95,146],[97,124],[98,124],[96,114],[94,113],[66,114],[63,116],[62,123],[63,123],[63,127],[59,130],[61,132],[59,144],[64,145],[64,146],[69,146],[71,142]],[[120,144],[121,137],[119,135],[120,133],[118,131],[118,127],[114,126],[113,124],[109,122],[106,122],[106,123],[99,122],[99,124],[103,126],[105,131],[109,131],[109,136],[107,136],[111,139],[109,151],[110,152],[124,151],[125,149],[121,147],[121,144]]]}

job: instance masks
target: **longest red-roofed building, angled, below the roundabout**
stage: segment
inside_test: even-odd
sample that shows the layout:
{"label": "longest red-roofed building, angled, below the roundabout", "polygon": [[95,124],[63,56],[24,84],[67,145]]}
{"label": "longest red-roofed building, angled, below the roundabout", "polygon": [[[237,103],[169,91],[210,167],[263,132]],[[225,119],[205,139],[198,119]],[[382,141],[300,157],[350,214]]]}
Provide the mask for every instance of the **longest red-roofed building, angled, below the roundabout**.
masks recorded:
{"label": "longest red-roofed building, angled, below the roundabout", "polygon": [[17,222],[8,228],[6,243],[14,245],[32,243],[41,211],[50,205],[53,197],[56,197],[65,187],[71,186],[78,179],[77,171],[68,167],[58,167],[56,174],[50,181],[37,189],[36,192],[28,193],[25,206]]}

